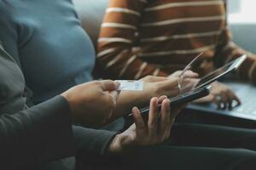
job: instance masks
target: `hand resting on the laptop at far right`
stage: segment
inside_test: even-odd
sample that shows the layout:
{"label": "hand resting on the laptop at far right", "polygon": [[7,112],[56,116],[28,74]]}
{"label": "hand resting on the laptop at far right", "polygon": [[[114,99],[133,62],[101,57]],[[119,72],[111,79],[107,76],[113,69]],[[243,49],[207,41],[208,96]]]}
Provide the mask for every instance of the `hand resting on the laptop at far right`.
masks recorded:
{"label": "hand resting on the laptop at far right", "polygon": [[210,95],[202,99],[198,99],[195,103],[214,103],[218,105],[218,109],[229,109],[232,110],[232,104],[235,100],[237,105],[241,105],[241,100],[236,94],[221,82],[212,82],[212,91]]}

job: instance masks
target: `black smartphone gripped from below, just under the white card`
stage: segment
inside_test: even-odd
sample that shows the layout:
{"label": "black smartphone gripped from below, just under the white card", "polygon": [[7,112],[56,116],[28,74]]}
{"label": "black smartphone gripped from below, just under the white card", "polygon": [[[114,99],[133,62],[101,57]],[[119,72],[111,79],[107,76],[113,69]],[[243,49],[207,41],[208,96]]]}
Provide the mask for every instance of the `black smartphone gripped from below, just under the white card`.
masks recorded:
{"label": "black smartphone gripped from below, just under the white card", "polygon": [[[191,90],[185,94],[180,94],[177,95],[176,97],[172,97],[172,98],[168,98],[170,99],[170,105],[171,106],[175,106],[175,105],[183,105],[186,103],[189,103],[195,99],[200,99],[203,98],[205,96],[207,96],[208,94],[210,94],[210,90],[211,90],[211,86],[206,86],[203,88],[196,88],[195,90]],[[161,105],[158,105],[159,109],[161,107]],[[149,111],[149,107],[144,107],[143,109],[139,110],[141,112],[141,114],[147,115],[148,111]],[[129,118],[132,118],[132,113],[130,113],[128,115]]]}

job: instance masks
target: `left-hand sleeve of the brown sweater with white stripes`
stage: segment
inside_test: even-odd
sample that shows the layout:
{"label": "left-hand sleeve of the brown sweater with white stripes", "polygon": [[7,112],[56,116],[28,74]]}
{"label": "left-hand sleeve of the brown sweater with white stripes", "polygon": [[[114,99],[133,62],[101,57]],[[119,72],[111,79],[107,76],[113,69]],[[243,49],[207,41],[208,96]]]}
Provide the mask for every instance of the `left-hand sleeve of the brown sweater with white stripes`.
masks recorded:
{"label": "left-hand sleeve of the brown sweater with white stripes", "polygon": [[98,39],[97,61],[115,78],[167,76],[137,57],[137,30],[147,0],[110,0]]}

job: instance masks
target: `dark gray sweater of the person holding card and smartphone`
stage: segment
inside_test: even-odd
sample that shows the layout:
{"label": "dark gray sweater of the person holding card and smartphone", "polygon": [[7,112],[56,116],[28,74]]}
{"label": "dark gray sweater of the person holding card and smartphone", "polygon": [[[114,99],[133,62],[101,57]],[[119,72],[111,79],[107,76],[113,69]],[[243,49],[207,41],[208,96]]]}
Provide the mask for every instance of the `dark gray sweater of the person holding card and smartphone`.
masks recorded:
{"label": "dark gray sweater of the person holding card and smartphone", "polygon": [[115,133],[72,127],[69,105],[61,96],[28,108],[24,93],[22,72],[0,42],[1,170],[69,170],[73,159],[61,158],[75,152],[104,154]]}

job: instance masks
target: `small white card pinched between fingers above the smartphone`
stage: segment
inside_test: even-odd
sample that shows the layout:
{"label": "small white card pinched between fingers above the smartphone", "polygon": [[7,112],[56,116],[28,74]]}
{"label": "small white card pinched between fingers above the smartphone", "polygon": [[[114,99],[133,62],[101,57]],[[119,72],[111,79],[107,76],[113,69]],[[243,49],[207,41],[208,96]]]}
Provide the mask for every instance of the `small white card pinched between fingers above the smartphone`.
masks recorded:
{"label": "small white card pinched between fingers above the smartphone", "polygon": [[143,81],[132,81],[132,80],[116,80],[120,82],[118,90],[122,91],[142,91],[144,88]]}

